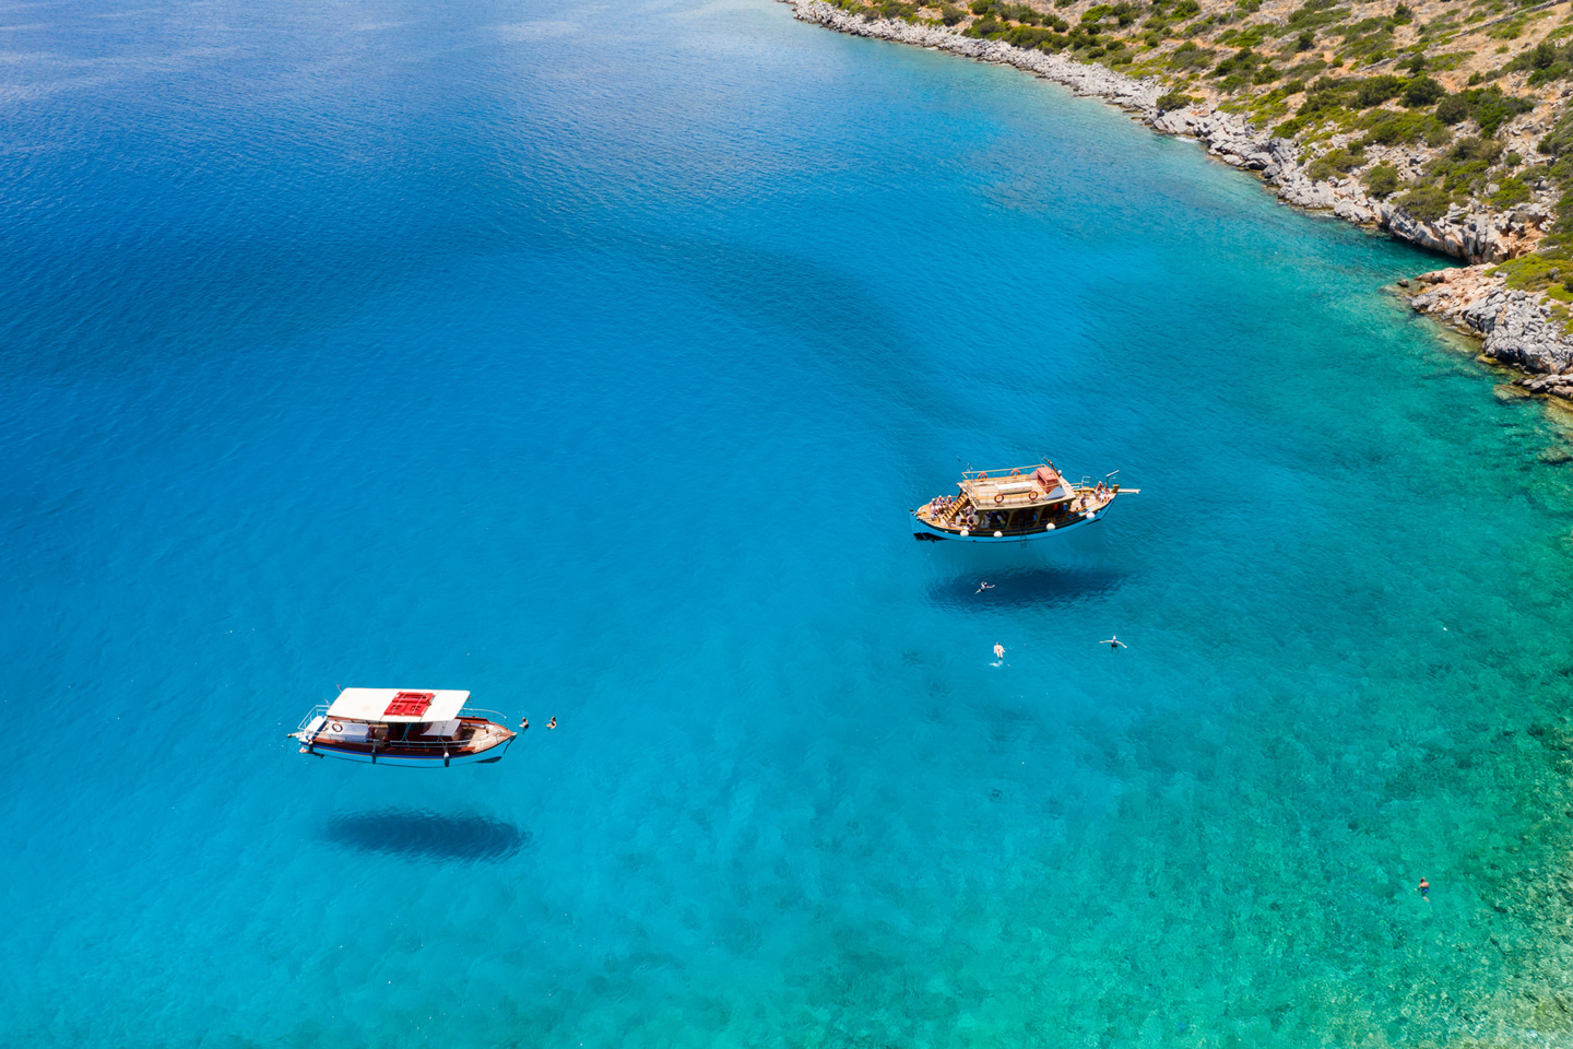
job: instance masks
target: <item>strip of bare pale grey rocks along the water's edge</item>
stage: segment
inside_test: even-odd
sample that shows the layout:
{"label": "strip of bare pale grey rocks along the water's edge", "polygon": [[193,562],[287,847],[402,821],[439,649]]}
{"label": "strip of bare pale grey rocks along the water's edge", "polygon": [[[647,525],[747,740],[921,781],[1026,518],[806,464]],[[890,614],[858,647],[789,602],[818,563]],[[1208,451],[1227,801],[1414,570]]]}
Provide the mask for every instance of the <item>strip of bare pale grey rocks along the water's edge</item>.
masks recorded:
{"label": "strip of bare pale grey rocks along the water's edge", "polygon": [[[1129,77],[1106,66],[1004,41],[963,36],[939,25],[868,19],[824,0],[782,2],[794,8],[799,20],[838,33],[915,44],[1032,72],[1076,94],[1118,105],[1156,132],[1195,138],[1224,164],[1257,173],[1288,204],[1331,211],[1346,222],[1474,263],[1463,269],[1422,275],[1419,282],[1424,289],[1411,296],[1409,305],[1482,340],[1485,357],[1526,373],[1518,385],[1531,393],[1573,399],[1573,337],[1553,318],[1543,294],[1512,289],[1502,277],[1490,272],[1491,263],[1515,258],[1531,248],[1548,217],[1545,209],[1534,204],[1507,214],[1468,214],[1455,209],[1436,222],[1420,222],[1394,204],[1367,197],[1353,178],[1312,179],[1309,160],[1301,159],[1293,140],[1262,134],[1238,113],[1206,105],[1161,109],[1158,102],[1166,86],[1155,79]],[[1405,149],[1392,153],[1402,154]]]}

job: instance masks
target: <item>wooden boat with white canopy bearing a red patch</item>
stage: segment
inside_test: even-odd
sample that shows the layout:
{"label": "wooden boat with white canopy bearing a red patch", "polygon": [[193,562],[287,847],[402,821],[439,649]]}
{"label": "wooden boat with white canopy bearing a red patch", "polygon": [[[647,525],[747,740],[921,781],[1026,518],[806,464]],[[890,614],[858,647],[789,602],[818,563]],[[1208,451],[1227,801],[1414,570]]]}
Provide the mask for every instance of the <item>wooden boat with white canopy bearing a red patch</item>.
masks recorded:
{"label": "wooden boat with white canopy bearing a red patch", "polygon": [[[518,734],[495,711],[466,709],[469,692],[344,689],[289,733],[300,753],[368,764],[448,767],[502,761]],[[497,720],[492,720],[492,719]]]}

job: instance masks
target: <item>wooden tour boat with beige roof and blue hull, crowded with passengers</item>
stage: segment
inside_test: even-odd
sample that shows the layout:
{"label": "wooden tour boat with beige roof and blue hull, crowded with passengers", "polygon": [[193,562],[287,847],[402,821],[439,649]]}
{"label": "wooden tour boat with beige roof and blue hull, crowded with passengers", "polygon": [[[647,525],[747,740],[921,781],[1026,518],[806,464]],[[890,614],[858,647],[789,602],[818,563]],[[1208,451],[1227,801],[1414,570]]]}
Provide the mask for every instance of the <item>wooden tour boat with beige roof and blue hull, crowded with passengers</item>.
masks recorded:
{"label": "wooden tour boat with beige roof and blue hull, crowded with passengers", "polygon": [[[1068,481],[1043,462],[1005,470],[966,470],[960,495],[938,495],[912,513],[912,536],[938,543],[1026,543],[1098,521],[1120,494],[1118,470],[1096,484]],[[1126,494],[1140,489],[1126,488]]]}

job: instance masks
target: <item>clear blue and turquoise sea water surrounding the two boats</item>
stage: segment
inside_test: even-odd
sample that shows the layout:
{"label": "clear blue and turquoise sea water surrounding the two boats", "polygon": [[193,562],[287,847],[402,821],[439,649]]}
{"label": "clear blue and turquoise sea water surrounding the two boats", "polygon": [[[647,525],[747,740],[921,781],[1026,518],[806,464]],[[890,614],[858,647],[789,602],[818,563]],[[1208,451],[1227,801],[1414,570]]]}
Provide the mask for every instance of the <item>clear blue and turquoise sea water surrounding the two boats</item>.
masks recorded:
{"label": "clear blue and turquoise sea water surrounding the two boats", "polygon": [[[0,58],[5,1044],[1573,1040],[1573,467],[1433,259],[764,0]],[[1142,492],[912,541],[1044,453]]]}

